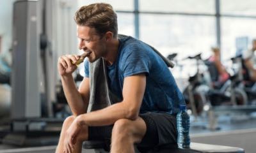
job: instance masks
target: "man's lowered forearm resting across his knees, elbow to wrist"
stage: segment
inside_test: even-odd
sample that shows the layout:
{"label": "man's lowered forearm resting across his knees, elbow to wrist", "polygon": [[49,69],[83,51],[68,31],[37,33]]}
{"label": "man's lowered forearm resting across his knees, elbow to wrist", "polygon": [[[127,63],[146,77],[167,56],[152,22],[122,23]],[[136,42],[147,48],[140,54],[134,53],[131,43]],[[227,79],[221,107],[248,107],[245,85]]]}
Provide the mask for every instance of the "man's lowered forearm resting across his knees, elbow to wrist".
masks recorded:
{"label": "man's lowered forearm resting across his knees, elbow to wrist", "polygon": [[102,110],[79,115],[77,122],[87,126],[108,126],[114,124],[118,119],[134,120],[136,117],[138,117],[138,112],[129,109],[124,102],[120,102]]}

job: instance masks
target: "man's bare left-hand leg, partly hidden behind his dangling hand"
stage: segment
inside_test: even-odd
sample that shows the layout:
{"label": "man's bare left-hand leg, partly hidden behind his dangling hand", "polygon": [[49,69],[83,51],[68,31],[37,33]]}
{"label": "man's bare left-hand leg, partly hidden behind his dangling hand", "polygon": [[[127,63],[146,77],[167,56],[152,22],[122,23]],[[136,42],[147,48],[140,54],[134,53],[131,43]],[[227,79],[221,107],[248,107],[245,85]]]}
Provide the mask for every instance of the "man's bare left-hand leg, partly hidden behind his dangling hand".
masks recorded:
{"label": "man's bare left-hand leg, partly hidden behind his dangling hand", "polygon": [[[70,117],[67,117],[67,119],[65,119],[65,121],[63,122],[63,126],[60,133],[60,140],[56,149],[56,153],[60,153],[60,152],[63,153],[65,133],[75,118],[76,117],[74,116],[70,116]],[[84,140],[88,140],[88,127],[84,128],[82,133],[80,133],[79,136],[77,137],[77,143],[75,145],[74,152],[81,152],[82,143]]]}

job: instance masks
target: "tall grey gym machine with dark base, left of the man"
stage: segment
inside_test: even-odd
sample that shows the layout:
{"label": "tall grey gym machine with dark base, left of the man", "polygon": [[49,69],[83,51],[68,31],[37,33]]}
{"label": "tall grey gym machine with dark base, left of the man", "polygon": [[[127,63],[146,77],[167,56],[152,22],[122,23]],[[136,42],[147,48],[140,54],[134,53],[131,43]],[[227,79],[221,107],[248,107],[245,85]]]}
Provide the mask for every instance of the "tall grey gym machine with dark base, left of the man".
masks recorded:
{"label": "tall grey gym machine with dark base, left of the man", "polygon": [[[38,146],[55,145],[58,142],[63,119],[51,118],[52,104],[48,93],[51,92],[51,81],[47,79],[51,78],[51,74],[46,73],[51,72],[48,69],[51,66],[47,65],[51,62],[48,61],[49,53],[46,52],[45,11],[39,11],[45,9],[45,3],[46,1],[13,3],[11,120],[10,132],[4,136],[3,143]],[[43,17],[40,18],[40,15]],[[43,19],[43,23],[40,19]],[[40,63],[41,61],[43,62]],[[41,94],[42,87],[45,88],[45,96]]]}

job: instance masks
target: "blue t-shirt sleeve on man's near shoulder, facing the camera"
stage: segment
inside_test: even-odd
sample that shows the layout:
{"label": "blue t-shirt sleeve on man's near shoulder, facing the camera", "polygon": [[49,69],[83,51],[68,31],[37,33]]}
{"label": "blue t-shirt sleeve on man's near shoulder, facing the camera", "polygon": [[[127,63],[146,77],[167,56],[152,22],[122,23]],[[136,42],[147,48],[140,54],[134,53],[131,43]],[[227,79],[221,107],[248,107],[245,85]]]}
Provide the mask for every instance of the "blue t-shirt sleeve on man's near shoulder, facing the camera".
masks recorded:
{"label": "blue t-shirt sleeve on man's near shoulder, facing the camera", "polygon": [[124,77],[130,77],[140,73],[145,73],[147,76],[149,75],[150,59],[148,49],[150,48],[139,44],[125,48],[121,64]]}

